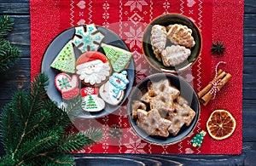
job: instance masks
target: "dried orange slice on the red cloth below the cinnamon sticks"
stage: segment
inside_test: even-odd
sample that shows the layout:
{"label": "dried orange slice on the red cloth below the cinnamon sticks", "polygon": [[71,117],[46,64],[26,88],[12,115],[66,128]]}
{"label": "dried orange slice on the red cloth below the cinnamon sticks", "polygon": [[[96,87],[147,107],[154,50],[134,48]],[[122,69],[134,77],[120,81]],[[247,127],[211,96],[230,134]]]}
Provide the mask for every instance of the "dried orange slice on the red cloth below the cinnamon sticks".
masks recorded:
{"label": "dried orange slice on the red cloth below the cinnamon sticks", "polygon": [[228,138],[235,129],[235,118],[225,110],[215,110],[207,121],[208,133],[216,140]]}

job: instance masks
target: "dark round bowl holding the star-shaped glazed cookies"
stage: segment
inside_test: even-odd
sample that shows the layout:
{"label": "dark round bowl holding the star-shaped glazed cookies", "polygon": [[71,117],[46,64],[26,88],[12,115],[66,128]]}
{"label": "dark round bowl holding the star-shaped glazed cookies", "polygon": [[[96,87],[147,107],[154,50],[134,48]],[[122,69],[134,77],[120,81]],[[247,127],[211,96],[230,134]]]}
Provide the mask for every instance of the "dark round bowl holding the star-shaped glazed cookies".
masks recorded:
{"label": "dark round bowl holding the star-shaped glazed cookies", "polygon": [[[166,78],[170,79],[172,85],[180,90],[181,96],[189,101],[189,106],[195,111],[196,114],[190,125],[183,125],[182,129],[180,129],[180,131],[175,136],[172,136],[172,134],[170,134],[168,137],[151,136],[146,134],[143,131],[143,129],[140,129],[137,126],[137,118],[133,119],[131,117],[131,104],[133,100],[140,100],[141,96],[147,91],[147,84],[149,81],[158,82],[161,79]],[[132,89],[131,94],[129,96],[129,102],[127,105],[128,118],[131,127],[135,130],[137,135],[139,135],[143,140],[146,140],[149,143],[156,145],[172,145],[185,139],[195,129],[196,123],[198,122],[198,119],[200,117],[200,110],[200,103],[197,94],[195,93],[195,90],[191,87],[191,85],[187,83],[185,80],[183,80],[182,77],[177,77],[170,73],[159,73],[146,77],[142,83],[137,84],[137,86],[134,89]]]}

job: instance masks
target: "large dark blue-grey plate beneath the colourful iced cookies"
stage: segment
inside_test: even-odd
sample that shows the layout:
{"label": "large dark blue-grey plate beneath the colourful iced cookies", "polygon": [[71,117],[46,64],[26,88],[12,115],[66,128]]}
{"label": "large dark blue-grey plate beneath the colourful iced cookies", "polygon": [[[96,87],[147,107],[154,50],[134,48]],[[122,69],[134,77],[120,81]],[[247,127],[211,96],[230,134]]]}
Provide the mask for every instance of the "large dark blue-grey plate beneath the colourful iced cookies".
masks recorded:
{"label": "large dark blue-grey plate beneath the colourful iced cookies", "polygon": [[[119,47],[121,49],[125,49],[127,51],[130,51],[124,41],[116,35],[113,31],[109,31],[108,29],[102,27],[102,26],[96,26],[98,31],[101,31],[105,37],[102,40],[102,43],[107,43],[109,45],[113,45],[116,47]],[[61,32],[60,35],[55,37],[55,39],[49,44],[48,48],[44,52],[44,59],[42,61],[41,66],[41,72],[44,72],[49,77],[49,86],[47,87],[47,94],[49,95],[49,98],[51,100],[55,100],[59,105],[63,102],[61,93],[55,88],[55,76],[60,73],[60,71],[55,70],[50,67],[50,64],[55,59],[56,55],[61,51],[61,49],[65,46],[65,44],[73,38],[75,32],[75,27],[72,27],[70,29],[67,29],[66,31]],[[74,47],[76,58],[79,57],[81,54],[78,49]],[[102,48],[98,49],[99,52],[102,52],[104,54],[104,51]],[[125,89],[125,97],[124,99],[119,103],[119,106],[121,106],[127,96],[131,92],[132,84],[135,77],[135,66],[134,66],[134,60],[131,58],[130,64],[127,67],[126,71],[128,72],[128,80],[129,84],[127,85]],[[81,87],[80,87],[81,88]],[[106,107],[101,112],[84,112],[81,109],[81,112],[79,112],[78,117],[84,117],[84,118],[96,118],[96,117],[102,117],[105,115],[108,115],[111,112],[114,112],[116,109],[119,108],[119,106],[111,106],[106,103]]]}

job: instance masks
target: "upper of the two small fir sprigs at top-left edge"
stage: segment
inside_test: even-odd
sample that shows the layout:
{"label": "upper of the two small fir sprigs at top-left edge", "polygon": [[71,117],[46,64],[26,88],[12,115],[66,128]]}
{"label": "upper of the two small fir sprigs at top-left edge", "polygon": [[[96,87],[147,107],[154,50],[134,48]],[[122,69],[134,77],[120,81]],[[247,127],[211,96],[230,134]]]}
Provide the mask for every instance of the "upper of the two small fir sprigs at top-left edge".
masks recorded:
{"label": "upper of the two small fir sprigs at top-left edge", "polygon": [[14,20],[8,15],[3,15],[0,19],[0,38],[6,37],[9,31],[12,30],[14,26]]}

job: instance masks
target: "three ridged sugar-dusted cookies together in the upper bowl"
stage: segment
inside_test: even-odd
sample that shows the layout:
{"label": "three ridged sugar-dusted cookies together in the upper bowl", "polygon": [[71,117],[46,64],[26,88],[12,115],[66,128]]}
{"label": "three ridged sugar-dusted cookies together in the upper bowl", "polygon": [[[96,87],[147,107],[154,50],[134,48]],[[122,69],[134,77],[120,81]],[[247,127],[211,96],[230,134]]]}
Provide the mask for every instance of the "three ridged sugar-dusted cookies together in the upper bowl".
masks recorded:
{"label": "three ridged sugar-dusted cookies together in the upper bowl", "polygon": [[188,26],[181,24],[152,26],[150,41],[156,59],[162,61],[164,66],[183,63],[195,46],[192,32]]}

